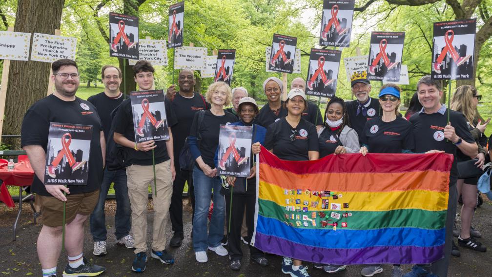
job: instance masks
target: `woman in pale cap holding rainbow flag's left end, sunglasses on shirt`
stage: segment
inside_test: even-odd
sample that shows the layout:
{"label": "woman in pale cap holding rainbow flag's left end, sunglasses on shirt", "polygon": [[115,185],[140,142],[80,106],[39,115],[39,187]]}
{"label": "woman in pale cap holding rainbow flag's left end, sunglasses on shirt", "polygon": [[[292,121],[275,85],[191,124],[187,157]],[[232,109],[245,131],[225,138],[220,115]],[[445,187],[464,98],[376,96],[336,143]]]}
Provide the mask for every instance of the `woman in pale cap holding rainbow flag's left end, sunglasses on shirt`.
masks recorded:
{"label": "woman in pale cap holding rainbow flag's left end, sunglasses on shirt", "polygon": [[[315,160],[319,158],[319,145],[316,127],[302,119],[307,108],[306,94],[293,89],[284,102],[287,116],[271,124],[267,129],[265,148],[283,160]],[[260,152],[260,144],[252,145],[253,153]],[[291,277],[309,277],[307,267],[302,261],[283,257],[282,272]]]}

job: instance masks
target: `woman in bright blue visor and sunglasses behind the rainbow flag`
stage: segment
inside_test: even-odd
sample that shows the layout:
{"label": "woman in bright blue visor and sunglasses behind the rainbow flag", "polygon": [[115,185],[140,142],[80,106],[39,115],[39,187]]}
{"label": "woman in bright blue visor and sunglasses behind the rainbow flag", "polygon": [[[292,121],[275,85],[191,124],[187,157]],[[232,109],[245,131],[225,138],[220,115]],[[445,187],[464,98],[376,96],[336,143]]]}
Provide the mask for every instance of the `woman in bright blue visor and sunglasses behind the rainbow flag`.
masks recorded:
{"label": "woman in bright blue visor and sunglasses behind the rainbow flag", "polygon": [[[386,84],[379,92],[379,104],[383,114],[369,120],[364,126],[363,146],[360,152],[371,153],[411,153],[414,141],[411,123],[398,116],[400,106],[400,87]],[[383,272],[381,265],[366,266],[362,276],[373,276]],[[392,276],[402,276],[400,265],[393,266]]]}

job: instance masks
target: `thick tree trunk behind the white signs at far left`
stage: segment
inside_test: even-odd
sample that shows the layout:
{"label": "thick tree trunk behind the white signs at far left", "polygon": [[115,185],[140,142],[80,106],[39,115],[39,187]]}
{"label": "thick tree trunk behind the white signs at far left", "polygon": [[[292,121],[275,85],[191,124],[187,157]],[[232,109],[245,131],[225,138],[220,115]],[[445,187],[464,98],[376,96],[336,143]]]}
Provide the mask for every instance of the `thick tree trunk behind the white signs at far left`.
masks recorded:
{"label": "thick tree trunk behind the white signs at far left", "polygon": [[[55,33],[56,29],[60,29],[63,1],[51,0],[50,4],[46,4],[45,1],[18,0],[14,31]],[[48,62],[10,62],[3,134],[21,133],[22,119],[28,108],[46,96],[50,66]],[[19,139],[5,142],[11,150],[20,149]]]}

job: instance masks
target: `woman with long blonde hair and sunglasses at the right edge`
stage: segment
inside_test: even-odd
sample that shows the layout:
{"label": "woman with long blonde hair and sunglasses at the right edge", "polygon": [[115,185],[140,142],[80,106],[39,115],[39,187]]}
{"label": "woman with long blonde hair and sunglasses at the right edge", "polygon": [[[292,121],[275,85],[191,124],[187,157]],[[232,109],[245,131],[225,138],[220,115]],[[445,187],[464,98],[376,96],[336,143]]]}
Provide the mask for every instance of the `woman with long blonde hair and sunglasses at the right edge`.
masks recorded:
{"label": "woman with long blonde hair and sunglasses at the right edge", "polygon": [[[480,145],[479,141],[481,137],[485,137],[483,132],[490,121],[489,119],[484,124],[481,124],[477,112],[477,105],[480,99],[482,99],[482,95],[477,94],[477,89],[473,86],[464,85],[456,89],[456,92],[451,98],[450,105],[452,110],[463,114],[468,123],[470,133],[477,142],[478,155],[475,157],[478,158],[478,161],[475,163],[477,167],[482,167],[484,165],[485,158],[487,156],[487,151],[482,147],[482,145]],[[462,154],[459,149],[456,154],[458,161],[470,159],[469,156]],[[475,235],[475,237],[478,237],[478,231],[471,231],[471,221],[475,207],[477,206],[477,183],[478,176],[468,179],[458,179],[458,182],[456,183],[458,198],[460,198],[461,194],[461,198],[463,200],[463,206],[461,206],[461,233],[458,236],[458,245],[461,247],[470,248],[472,250],[485,252],[487,251],[487,247],[475,240],[473,236]],[[454,245],[454,241],[452,253],[455,256],[460,255],[458,248]]]}

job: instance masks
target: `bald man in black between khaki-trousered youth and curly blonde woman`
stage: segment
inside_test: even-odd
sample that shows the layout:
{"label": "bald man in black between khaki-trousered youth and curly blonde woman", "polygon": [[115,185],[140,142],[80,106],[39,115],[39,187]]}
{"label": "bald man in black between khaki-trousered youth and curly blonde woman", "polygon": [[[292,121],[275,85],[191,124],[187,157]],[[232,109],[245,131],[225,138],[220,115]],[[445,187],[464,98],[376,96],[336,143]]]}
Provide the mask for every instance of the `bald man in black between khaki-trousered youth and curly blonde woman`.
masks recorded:
{"label": "bald man in black between khaki-trousered youth and curly blonde woman", "polygon": [[184,146],[184,141],[189,135],[191,123],[195,113],[199,110],[207,110],[210,104],[205,102],[205,98],[197,92],[194,92],[195,76],[191,69],[181,69],[178,75],[179,91],[176,92],[176,85],[167,89],[166,96],[172,100],[172,109],[178,120],[178,124],[171,127],[174,142],[174,168],[176,170],[176,179],[173,184],[173,196],[171,197],[171,206],[169,214],[173,225],[174,235],[171,238],[170,245],[173,247],[181,246],[184,238],[183,233],[183,188],[185,181],[188,182],[188,195],[191,200],[191,208],[194,214],[195,201],[192,195],[193,180],[188,171],[181,170],[179,164],[179,154]]}

